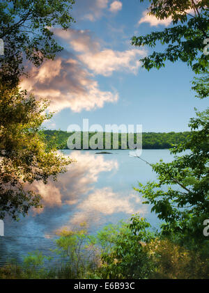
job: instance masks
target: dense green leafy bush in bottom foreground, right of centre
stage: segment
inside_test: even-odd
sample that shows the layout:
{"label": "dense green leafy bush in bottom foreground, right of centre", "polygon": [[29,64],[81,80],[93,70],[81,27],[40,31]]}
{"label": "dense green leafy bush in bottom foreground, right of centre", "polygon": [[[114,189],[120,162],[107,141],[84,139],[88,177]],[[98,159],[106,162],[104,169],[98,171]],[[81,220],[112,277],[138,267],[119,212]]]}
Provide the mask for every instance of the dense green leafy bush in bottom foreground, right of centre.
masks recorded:
{"label": "dense green leafy bush in bottom foreground, right of centre", "polygon": [[101,249],[102,278],[148,278],[153,269],[146,243],[153,239],[154,233],[148,228],[150,224],[139,215],[131,223],[108,225],[98,233]]}

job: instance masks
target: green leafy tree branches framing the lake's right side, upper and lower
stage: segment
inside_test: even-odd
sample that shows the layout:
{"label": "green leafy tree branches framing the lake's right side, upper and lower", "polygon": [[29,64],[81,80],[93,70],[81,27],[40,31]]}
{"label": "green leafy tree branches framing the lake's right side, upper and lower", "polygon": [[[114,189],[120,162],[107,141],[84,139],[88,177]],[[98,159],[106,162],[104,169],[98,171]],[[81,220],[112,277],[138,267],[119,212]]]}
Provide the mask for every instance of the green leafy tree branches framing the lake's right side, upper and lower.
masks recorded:
{"label": "green leafy tree branches framing the lake's right side, upper and lower", "polygon": [[[183,61],[196,74],[201,74],[201,77],[195,77],[192,82],[196,97],[208,97],[208,55],[203,48],[203,41],[208,35],[208,2],[150,2],[150,15],[160,19],[171,17],[174,25],[178,22],[181,24],[132,38],[132,45],[135,46],[155,47],[157,41],[168,45],[163,53],[153,52],[141,59],[143,67],[147,70],[160,69],[164,67],[165,61]],[[193,13],[188,13],[189,10],[193,10]],[[152,211],[165,221],[162,235],[180,241],[189,248],[201,248],[204,253],[209,246],[208,239],[203,236],[203,221],[209,218],[208,115],[209,109],[202,113],[196,111],[197,118],[191,118],[189,123],[192,132],[187,141],[171,150],[171,154],[175,155],[187,149],[190,153],[175,157],[169,164],[163,161],[152,164],[158,182],[148,182],[145,185],[139,183],[139,188],[136,188],[146,198],[144,203],[151,204]]]}

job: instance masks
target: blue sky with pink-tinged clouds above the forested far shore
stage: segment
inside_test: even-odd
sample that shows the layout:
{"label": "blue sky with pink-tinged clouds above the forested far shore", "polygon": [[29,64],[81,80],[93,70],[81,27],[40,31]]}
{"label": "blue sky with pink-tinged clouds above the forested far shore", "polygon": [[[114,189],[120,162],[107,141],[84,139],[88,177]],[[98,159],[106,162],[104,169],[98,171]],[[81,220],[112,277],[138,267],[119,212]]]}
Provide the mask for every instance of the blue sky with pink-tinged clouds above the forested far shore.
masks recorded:
{"label": "blue sky with pink-tinged clouds above the forested far shore", "polygon": [[[152,49],[131,45],[133,35],[146,35],[172,26],[171,19],[146,15],[149,1],[77,0],[72,8],[75,23],[54,37],[63,51],[54,61],[31,68],[22,87],[51,101],[56,111],[47,129],[66,131],[83,119],[89,125],[142,125],[143,132],[188,131],[194,107],[206,101],[194,97],[194,72],[185,63],[165,68],[141,68],[140,58]],[[157,45],[156,50],[163,47]]]}

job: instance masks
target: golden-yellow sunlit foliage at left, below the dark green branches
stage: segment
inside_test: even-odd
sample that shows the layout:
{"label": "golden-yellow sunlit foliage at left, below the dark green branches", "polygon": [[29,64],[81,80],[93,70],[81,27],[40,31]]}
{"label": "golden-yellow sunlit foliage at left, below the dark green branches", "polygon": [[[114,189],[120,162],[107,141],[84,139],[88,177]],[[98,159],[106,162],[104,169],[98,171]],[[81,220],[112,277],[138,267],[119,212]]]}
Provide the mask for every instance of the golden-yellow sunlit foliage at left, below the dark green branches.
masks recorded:
{"label": "golden-yellow sunlit foliage at left, below the dark green branches", "polygon": [[49,102],[37,101],[19,88],[5,89],[0,84],[0,219],[10,214],[27,214],[40,207],[41,195],[31,191],[34,181],[45,184],[70,164],[68,157],[49,148],[39,134],[42,122],[52,117],[45,113]]}

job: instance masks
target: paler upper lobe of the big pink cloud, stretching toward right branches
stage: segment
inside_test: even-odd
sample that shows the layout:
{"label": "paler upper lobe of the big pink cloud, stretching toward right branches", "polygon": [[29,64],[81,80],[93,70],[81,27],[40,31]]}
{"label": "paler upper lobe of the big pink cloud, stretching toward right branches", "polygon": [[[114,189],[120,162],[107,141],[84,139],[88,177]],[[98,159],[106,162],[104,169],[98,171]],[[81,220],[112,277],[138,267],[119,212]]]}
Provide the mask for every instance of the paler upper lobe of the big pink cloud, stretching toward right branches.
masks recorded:
{"label": "paler upper lobe of the big pink cloud, stretching toward right branches", "polygon": [[131,49],[123,52],[102,49],[100,42],[94,40],[89,31],[68,30],[66,33],[54,29],[54,34],[65,40],[70,48],[78,53],[77,58],[94,74],[110,76],[115,71],[137,73],[139,58],[146,56],[144,49]]}

